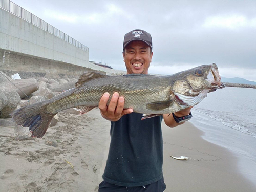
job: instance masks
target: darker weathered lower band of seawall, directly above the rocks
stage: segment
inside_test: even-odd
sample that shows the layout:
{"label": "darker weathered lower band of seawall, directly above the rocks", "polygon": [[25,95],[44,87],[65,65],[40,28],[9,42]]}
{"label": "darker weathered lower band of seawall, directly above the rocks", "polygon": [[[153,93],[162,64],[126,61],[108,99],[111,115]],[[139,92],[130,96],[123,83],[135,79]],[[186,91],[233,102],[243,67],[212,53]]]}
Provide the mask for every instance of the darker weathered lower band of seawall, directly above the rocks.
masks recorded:
{"label": "darker weathered lower band of seawall, directly above the rocks", "polygon": [[[8,76],[19,73],[22,78],[79,77],[85,71],[97,71],[52,59],[0,49],[0,70]],[[106,72],[97,71],[103,74]]]}

